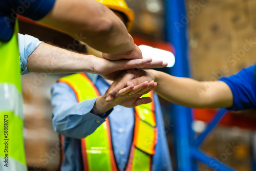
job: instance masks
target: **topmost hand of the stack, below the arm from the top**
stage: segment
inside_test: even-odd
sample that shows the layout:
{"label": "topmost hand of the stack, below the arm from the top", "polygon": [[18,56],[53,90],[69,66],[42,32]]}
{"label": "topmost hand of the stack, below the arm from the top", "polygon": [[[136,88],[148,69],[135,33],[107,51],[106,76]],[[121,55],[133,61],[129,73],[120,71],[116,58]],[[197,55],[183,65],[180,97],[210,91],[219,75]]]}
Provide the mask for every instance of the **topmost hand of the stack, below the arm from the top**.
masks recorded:
{"label": "topmost hand of the stack, below the arm from the top", "polygon": [[134,44],[134,48],[130,51],[119,53],[119,54],[106,54],[102,53],[103,58],[109,60],[119,60],[119,59],[143,59],[141,50],[137,45]]}

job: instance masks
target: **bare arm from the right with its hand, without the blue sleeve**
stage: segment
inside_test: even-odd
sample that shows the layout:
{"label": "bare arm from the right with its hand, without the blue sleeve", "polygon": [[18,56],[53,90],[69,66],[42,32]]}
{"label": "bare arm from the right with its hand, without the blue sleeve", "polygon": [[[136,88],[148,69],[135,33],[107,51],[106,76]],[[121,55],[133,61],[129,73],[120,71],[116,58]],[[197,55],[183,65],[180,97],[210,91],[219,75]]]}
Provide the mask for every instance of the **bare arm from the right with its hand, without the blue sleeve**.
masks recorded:
{"label": "bare arm from the right with its hand, without the blue sleeve", "polygon": [[[144,81],[156,81],[154,90],[164,99],[191,108],[229,108],[232,106],[232,92],[222,81],[206,82],[190,78],[175,77],[155,70],[129,72],[119,82],[114,82],[107,101],[126,85],[138,85]],[[130,82],[132,81],[132,82]],[[131,93],[134,93],[131,91]]]}

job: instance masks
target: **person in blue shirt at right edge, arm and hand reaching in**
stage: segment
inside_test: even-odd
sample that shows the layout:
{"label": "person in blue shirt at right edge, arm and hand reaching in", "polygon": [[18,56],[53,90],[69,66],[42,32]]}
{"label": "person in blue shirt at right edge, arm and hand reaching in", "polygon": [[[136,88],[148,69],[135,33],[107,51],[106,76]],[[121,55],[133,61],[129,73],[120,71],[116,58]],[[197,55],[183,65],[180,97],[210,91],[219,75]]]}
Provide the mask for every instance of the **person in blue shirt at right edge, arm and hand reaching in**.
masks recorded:
{"label": "person in blue shirt at right edge, arm and hand reaching in", "polygon": [[108,90],[106,101],[111,101],[126,85],[136,86],[152,80],[158,83],[154,91],[159,96],[190,108],[227,108],[233,111],[256,109],[255,65],[241,70],[236,75],[209,82],[175,77],[155,70],[129,72],[113,83]]}

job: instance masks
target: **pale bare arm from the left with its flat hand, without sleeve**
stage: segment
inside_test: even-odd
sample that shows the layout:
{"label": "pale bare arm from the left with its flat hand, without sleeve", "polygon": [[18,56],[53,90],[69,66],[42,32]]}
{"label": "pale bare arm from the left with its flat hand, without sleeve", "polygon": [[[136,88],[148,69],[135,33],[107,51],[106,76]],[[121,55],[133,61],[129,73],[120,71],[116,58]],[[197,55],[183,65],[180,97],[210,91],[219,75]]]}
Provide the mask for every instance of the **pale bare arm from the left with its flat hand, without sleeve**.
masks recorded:
{"label": "pale bare arm from the left with its flat hand, without sleeve", "polygon": [[93,55],[79,54],[45,43],[40,44],[28,57],[27,68],[30,72],[76,73],[90,72],[114,79],[116,71],[129,68],[164,67],[162,61],[152,59],[131,59],[112,61]]}

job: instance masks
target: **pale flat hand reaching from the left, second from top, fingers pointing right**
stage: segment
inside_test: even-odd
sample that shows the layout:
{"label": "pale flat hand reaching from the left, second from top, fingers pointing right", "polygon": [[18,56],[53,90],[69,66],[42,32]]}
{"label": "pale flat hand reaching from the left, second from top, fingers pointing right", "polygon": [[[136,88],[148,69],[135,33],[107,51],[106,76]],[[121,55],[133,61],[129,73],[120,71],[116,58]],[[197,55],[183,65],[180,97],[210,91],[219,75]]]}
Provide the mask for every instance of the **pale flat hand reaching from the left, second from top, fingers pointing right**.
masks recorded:
{"label": "pale flat hand reaching from the left, second from top, fingers pointing right", "polygon": [[[93,56],[92,56],[93,57]],[[93,72],[101,75],[105,79],[115,80],[119,75],[127,69],[150,69],[166,67],[167,63],[161,60],[146,59],[123,59],[123,60],[108,60],[105,58],[94,57],[92,60]],[[119,89],[120,90],[120,89]]]}

